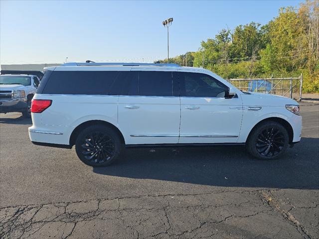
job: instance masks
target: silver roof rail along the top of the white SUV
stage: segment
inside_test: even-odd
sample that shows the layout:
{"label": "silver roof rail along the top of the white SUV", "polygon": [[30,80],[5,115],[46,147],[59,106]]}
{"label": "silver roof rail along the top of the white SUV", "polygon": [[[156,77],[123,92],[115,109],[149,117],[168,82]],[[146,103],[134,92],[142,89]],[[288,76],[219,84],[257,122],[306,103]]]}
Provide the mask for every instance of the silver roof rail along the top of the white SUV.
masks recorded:
{"label": "silver roof rail along the top of the white SUV", "polygon": [[61,66],[163,66],[163,67],[180,67],[177,64],[161,64],[161,63],[105,63],[105,62],[67,62],[62,64]]}

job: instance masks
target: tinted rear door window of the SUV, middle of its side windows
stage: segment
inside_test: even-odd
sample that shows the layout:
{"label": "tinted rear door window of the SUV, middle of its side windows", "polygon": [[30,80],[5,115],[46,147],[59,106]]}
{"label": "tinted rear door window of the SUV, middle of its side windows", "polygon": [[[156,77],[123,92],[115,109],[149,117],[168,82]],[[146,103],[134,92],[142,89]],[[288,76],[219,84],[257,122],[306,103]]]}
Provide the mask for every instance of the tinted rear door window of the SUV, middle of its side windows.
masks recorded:
{"label": "tinted rear door window of the SUV, middle of its side windows", "polygon": [[140,96],[172,96],[172,73],[168,71],[140,71]]}

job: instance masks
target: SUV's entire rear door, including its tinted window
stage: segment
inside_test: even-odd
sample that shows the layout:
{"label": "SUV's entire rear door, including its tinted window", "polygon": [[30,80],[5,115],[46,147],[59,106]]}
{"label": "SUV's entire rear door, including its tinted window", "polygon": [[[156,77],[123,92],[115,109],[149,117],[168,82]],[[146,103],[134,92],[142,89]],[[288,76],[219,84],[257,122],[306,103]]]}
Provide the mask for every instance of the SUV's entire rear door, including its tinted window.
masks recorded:
{"label": "SUV's entire rear door, including its tinted window", "polygon": [[119,129],[126,144],[177,143],[179,97],[173,96],[172,72],[133,71],[126,96],[119,97]]}

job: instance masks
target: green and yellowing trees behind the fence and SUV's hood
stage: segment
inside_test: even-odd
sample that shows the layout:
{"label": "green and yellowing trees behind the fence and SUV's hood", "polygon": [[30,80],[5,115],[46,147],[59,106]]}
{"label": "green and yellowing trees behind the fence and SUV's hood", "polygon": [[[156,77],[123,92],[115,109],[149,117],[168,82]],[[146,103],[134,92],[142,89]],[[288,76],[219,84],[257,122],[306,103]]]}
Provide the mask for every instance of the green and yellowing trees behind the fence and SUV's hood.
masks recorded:
{"label": "green and yellowing trees behind the fence and SUV's hood", "polygon": [[282,7],[266,25],[251,22],[222,29],[202,41],[198,51],[170,58],[169,63],[185,66],[186,58],[187,66],[209,69],[225,79],[303,73],[303,92],[319,93],[319,0]]}

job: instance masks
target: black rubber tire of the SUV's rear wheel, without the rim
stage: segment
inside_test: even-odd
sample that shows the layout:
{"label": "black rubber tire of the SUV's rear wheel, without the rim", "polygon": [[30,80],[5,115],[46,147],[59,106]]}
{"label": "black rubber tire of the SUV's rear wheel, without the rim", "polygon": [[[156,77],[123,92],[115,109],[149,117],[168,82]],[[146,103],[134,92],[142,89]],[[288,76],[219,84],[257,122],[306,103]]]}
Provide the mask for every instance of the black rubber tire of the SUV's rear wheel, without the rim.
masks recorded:
{"label": "black rubber tire of the SUV's rear wheel, without the rim", "polygon": [[[93,162],[90,162],[89,160],[87,160],[84,157],[84,155],[82,154],[83,147],[81,145],[84,142],[83,139],[88,133],[92,133],[92,132],[103,132],[103,133],[107,134],[114,142],[114,145],[115,145],[114,154],[106,162],[93,163]],[[119,138],[119,135],[112,128],[107,127],[105,125],[92,125],[92,126],[88,126],[88,127],[84,128],[78,134],[78,136],[76,138],[76,141],[75,141],[76,154],[78,155],[78,157],[80,158],[80,160],[83,163],[85,163],[85,164],[87,164],[89,166],[92,166],[92,167],[103,167],[103,166],[107,166],[107,165],[113,163],[118,158],[118,156],[120,155],[121,148],[122,148],[122,144],[121,144],[121,140]]]}

